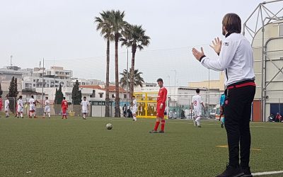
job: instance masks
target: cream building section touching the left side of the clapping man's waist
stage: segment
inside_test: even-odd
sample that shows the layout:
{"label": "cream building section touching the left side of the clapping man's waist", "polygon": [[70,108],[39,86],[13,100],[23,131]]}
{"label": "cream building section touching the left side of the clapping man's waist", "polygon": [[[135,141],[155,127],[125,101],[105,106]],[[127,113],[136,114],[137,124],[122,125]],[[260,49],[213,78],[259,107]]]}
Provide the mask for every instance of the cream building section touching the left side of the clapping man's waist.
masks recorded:
{"label": "cream building section touching the left side of the clapping man's waist", "polygon": [[189,87],[195,87],[195,88],[209,87],[209,89],[219,89],[219,91],[224,91],[224,72],[220,72],[219,80],[190,82]]}

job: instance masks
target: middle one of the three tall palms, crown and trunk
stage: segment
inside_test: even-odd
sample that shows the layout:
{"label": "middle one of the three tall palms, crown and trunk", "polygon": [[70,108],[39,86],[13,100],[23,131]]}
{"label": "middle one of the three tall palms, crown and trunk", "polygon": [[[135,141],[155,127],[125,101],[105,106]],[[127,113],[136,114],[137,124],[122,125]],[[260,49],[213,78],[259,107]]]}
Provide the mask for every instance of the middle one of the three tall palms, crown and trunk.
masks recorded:
{"label": "middle one of the three tall palms, crown and trunk", "polygon": [[111,32],[114,35],[115,41],[115,118],[120,118],[120,96],[119,96],[119,68],[118,68],[118,43],[121,38],[121,33],[127,27],[128,23],[124,21],[124,11],[110,12]]}

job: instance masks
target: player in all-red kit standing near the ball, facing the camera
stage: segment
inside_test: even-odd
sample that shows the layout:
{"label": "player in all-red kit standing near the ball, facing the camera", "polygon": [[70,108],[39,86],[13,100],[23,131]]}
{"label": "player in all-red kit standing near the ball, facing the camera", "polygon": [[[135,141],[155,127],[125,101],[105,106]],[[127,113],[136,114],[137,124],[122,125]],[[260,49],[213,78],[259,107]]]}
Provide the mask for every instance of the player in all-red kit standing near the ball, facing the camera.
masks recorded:
{"label": "player in all-red kit standing near the ball, facing the camera", "polygon": [[164,111],[166,108],[166,98],[167,98],[167,89],[163,86],[163,80],[157,79],[157,84],[160,87],[157,98],[156,106],[156,122],[154,130],[151,130],[150,133],[157,133],[158,126],[161,122],[161,130],[159,132],[164,132],[165,120],[164,120]]}

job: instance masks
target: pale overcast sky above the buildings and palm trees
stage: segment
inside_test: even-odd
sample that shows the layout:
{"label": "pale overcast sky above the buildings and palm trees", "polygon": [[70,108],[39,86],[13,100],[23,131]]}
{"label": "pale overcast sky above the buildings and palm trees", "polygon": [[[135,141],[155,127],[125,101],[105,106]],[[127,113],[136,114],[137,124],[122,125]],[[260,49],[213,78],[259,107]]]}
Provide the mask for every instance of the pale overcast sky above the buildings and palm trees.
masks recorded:
{"label": "pale overcast sky above the buildings and palm trees", "polygon": [[[221,35],[226,13],[246,21],[261,1],[185,0],[0,0],[0,67],[62,66],[74,76],[105,81],[106,42],[96,31],[94,18],[101,11],[125,11],[125,21],[142,25],[151,38],[149,47],[137,52],[135,68],[147,82],[163,78],[165,84],[187,86],[189,81],[218,79],[192,56],[192,47],[204,47]],[[110,45],[110,81],[115,80],[114,44]],[[131,60],[129,49],[129,66]],[[119,47],[119,70],[127,68],[127,48]]]}

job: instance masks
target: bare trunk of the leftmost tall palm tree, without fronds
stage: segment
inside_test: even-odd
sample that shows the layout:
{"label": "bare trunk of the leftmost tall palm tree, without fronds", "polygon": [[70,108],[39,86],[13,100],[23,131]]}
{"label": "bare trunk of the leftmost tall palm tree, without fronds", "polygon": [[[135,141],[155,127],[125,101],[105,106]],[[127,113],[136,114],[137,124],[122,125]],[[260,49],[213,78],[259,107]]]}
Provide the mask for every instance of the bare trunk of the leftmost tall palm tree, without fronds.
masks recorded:
{"label": "bare trunk of the leftmost tall palm tree, without fronds", "polygon": [[110,40],[107,40],[106,50],[106,95],[105,95],[105,117],[110,117],[110,99],[109,99],[109,63],[110,63]]}

